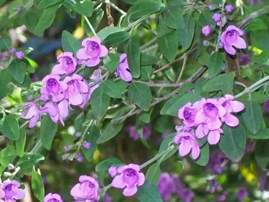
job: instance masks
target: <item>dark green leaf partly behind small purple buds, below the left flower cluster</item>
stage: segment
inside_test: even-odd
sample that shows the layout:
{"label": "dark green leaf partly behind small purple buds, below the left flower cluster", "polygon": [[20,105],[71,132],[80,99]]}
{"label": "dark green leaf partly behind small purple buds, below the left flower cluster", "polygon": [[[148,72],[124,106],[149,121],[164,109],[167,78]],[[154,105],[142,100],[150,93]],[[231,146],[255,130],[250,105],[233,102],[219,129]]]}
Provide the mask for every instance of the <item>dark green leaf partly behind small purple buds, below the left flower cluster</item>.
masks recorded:
{"label": "dark green leaf partly behind small purple buds, below the left flower cluster", "polygon": [[85,158],[88,161],[92,160],[93,154],[95,154],[95,150],[97,149],[97,140],[100,137],[101,132],[99,128],[96,126],[92,125],[90,126],[89,130],[85,134],[84,140],[86,142],[90,142],[90,149],[85,149],[84,147],[81,149]]}

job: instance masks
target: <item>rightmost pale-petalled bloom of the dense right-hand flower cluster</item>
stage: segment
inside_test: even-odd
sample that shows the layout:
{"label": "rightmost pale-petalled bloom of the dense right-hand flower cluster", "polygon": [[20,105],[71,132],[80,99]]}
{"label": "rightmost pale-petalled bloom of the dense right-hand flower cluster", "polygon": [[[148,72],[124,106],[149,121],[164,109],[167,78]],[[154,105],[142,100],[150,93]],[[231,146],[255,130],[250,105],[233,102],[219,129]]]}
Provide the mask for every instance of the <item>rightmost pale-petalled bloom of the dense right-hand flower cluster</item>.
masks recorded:
{"label": "rightmost pale-petalled bloom of the dense right-hand flower cluster", "polygon": [[230,127],[235,127],[239,124],[239,120],[230,113],[241,112],[244,109],[244,104],[234,99],[233,95],[225,95],[225,97],[218,100],[218,104],[222,105],[227,112],[225,116],[221,117],[221,121],[224,121]]}

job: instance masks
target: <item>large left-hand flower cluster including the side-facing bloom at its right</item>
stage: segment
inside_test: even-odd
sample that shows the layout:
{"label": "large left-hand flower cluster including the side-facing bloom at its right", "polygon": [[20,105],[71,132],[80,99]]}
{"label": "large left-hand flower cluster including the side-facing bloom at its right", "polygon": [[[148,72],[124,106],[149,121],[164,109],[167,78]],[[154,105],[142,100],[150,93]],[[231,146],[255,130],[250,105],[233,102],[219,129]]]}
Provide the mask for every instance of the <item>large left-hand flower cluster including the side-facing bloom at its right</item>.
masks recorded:
{"label": "large left-hand flower cluster including the side-facing bloom at its right", "polygon": [[[109,51],[97,36],[84,39],[81,44],[82,48],[78,50],[76,57],[71,52],[64,52],[57,56],[57,65],[53,67],[51,74],[42,79],[40,99],[25,102],[22,118],[30,119],[29,128],[36,125],[41,114],[49,114],[53,122],[60,121],[64,126],[63,119],[68,116],[71,106],[84,108],[93,90],[100,85],[98,81],[102,79],[102,70],[98,65],[101,62],[100,58],[106,57]],[[17,53],[15,50],[13,52]],[[81,75],[76,74],[78,65],[96,67],[89,77],[89,83]],[[125,53],[120,55],[115,74],[124,81],[132,80]],[[39,105],[40,100],[44,102],[42,107]]]}

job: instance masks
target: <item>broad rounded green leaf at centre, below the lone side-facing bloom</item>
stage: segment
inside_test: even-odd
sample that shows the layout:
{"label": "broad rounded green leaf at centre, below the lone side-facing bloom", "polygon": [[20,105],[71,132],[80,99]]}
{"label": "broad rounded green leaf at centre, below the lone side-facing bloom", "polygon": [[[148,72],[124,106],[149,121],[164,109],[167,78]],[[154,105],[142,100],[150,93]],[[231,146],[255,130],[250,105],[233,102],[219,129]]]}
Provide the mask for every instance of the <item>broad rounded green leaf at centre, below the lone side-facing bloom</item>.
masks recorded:
{"label": "broad rounded green leaf at centre, below the lone side-facing bloom", "polygon": [[148,111],[151,106],[151,89],[144,83],[132,83],[128,88],[128,97],[132,102],[143,109]]}

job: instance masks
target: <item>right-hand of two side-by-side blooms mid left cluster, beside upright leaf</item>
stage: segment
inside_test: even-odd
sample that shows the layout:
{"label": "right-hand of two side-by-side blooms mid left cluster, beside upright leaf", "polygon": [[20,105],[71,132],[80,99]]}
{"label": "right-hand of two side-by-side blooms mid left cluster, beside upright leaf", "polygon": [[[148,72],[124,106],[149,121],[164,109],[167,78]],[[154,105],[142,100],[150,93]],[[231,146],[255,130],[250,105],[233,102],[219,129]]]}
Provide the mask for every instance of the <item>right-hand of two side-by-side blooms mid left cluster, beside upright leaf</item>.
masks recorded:
{"label": "right-hand of two side-by-side blooms mid left cluster, beside upright leaf", "polygon": [[65,90],[65,99],[68,99],[71,105],[81,105],[83,102],[83,96],[81,93],[88,93],[88,83],[83,81],[82,76],[74,74],[73,76],[67,76],[64,79],[67,83],[67,90]]}

